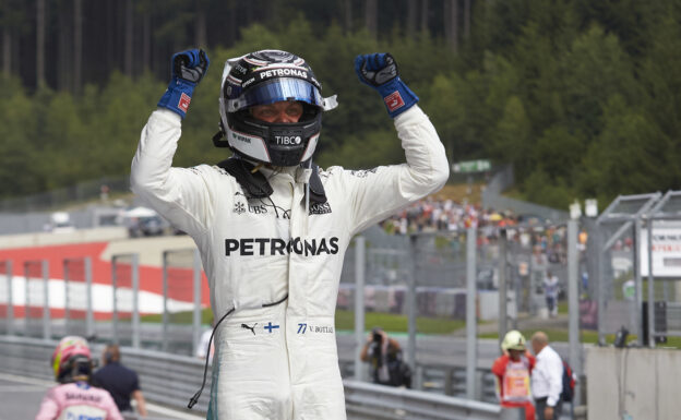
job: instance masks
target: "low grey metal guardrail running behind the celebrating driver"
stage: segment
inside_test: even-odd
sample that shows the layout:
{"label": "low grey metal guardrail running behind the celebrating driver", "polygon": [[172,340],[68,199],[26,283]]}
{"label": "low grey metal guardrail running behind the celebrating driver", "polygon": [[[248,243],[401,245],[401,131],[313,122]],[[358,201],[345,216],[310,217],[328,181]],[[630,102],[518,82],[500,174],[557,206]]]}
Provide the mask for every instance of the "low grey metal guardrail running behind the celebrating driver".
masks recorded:
{"label": "low grey metal guardrail running behind the celebrating driver", "polygon": [[[0,336],[0,372],[51,380],[49,360],[56,346],[55,340]],[[98,355],[103,345],[92,347]],[[201,386],[203,362],[199,359],[130,347],[121,348],[121,353],[122,363],[140,375],[150,401],[183,409]],[[356,381],[344,381],[344,385],[348,419],[522,419],[519,410],[493,404]],[[204,395],[194,411],[207,410],[210,387],[208,374]]]}

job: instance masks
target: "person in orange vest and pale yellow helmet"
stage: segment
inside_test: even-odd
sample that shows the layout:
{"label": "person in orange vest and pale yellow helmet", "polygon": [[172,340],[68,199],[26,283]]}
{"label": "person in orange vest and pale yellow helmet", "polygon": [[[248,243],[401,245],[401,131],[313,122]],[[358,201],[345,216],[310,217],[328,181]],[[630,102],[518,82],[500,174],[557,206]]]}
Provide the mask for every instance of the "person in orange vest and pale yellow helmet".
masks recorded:
{"label": "person in orange vest and pale yellow helmet", "polygon": [[512,329],[501,343],[503,355],[494,360],[492,373],[497,376],[497,396],[502,407],[525,408],[525,420],[535,420],[535,406],[529,388],[536,359],[525,347],[525,337]]}

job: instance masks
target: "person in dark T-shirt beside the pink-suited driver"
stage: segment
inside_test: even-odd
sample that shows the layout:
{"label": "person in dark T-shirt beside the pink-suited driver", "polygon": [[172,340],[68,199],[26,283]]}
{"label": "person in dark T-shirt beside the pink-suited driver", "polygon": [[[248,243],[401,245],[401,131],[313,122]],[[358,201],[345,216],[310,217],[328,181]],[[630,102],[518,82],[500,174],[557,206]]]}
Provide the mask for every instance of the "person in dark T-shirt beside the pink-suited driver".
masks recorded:
{"label": "person in dark T-shirt beside the pink-suited driver", "polygon": [[95,372],[95,382],[108,391],[118,409],[132,411],[130,399],[134,398],[138,404],[138,412],[146,417],[146,403],[140,389],[138,374],[120,363],[120,349],[118,345],[106,346],[101,355],[103,367]]}

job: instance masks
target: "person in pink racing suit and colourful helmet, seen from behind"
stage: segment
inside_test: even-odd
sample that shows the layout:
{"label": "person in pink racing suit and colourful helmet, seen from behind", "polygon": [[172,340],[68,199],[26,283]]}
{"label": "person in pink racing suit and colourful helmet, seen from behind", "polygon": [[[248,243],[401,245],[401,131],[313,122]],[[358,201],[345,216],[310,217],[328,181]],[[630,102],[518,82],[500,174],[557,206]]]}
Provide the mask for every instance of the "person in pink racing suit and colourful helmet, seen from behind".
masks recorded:
{"label": "person in pink racing suit and colourful helmet, seen from behind", "polygon": [[111,395],[89,384],[93,361],[84,338],[68,336],[52,353],[55,379],[35,420],[123,420]]}

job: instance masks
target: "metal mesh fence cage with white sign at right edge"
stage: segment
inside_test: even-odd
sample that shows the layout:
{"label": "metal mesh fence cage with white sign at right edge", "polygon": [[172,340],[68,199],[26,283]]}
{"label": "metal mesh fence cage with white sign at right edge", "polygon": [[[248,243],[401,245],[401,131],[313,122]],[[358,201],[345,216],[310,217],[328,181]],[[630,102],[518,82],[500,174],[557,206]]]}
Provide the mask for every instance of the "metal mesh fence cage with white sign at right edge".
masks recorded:
{"label": "metal mesh fence cage with white sign at right edge", "polygon": [[655,347],[681,336],[681,192],[618,196],[585,225],[583,327],[600,344],[632,335]]}

